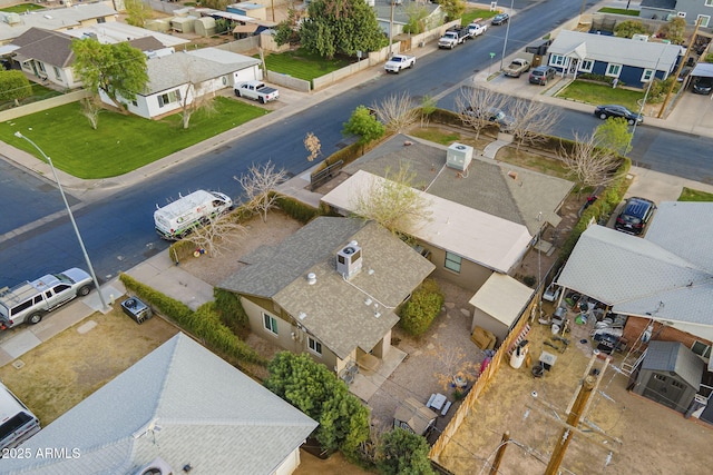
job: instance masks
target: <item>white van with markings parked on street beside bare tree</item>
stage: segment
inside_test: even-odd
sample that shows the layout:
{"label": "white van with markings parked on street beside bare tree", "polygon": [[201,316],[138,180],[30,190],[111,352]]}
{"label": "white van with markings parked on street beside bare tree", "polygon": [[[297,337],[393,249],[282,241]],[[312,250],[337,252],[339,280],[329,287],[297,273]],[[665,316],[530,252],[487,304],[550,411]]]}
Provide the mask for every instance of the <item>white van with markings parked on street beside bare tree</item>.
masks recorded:
{"label": "white van with markings parked on street beside bare tree", "polygon": [[229,211],[233,200],[218,191],[198,190],[182,196],[163,208],[156,205],[154,226],[156,232],[167,240],[178,240],[211,218]]}

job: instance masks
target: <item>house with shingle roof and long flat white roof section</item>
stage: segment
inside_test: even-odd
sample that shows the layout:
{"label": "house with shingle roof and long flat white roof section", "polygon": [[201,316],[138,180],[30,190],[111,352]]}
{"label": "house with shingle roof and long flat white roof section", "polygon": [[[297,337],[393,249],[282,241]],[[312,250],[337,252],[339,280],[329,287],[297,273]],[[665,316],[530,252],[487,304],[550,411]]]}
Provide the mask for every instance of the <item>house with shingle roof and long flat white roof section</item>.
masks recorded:
{"label": "house with shingle roof and long flat white roof section", "polygon": [[[466,154],[453,168],[449,157]],[[574,184],[479,157],[471,147],[443,147],[397,135],[344,167],[322,201],[354,212],[354,197],[408,167],[429,205],[429,219],[408,232],[436,265],[436,275],[477,291],[494,274],[511,274],[557,215]]]}

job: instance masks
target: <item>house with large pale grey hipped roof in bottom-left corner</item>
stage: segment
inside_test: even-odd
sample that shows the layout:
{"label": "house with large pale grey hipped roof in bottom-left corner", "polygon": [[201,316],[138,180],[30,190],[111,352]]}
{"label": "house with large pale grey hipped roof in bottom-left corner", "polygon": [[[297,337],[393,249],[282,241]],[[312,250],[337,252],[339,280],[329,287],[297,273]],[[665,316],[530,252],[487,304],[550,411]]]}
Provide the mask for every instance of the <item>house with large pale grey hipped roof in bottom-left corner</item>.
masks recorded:
{"label": "house with large pale grey hipped roof in bottom-left corner", "polygon": [[316,426],[178,334],[22,444],[32,456],[3,458],[2,473],[287,475]]}

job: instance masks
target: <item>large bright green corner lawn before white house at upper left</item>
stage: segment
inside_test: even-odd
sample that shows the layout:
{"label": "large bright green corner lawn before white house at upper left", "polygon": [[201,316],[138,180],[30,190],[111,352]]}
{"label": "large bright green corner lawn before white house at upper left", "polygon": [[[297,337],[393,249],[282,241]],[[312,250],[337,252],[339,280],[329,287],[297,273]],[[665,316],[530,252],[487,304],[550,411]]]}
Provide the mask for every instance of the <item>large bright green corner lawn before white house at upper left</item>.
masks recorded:
{"label": "large bright green corner lawn before white house at upper left", "polygon": [[179,115],[146,120],[109,111],[99,115],[99,127],[92,130],[75,102],[0,123],[0,140],[40,158],[29,142],[14,137],[20,131],[45,150],[58,169],[84,179],[108,178],[267,113],[224,97],[216,98],[215,106],[212,115],[194,113],[187,130],[180,127]]}

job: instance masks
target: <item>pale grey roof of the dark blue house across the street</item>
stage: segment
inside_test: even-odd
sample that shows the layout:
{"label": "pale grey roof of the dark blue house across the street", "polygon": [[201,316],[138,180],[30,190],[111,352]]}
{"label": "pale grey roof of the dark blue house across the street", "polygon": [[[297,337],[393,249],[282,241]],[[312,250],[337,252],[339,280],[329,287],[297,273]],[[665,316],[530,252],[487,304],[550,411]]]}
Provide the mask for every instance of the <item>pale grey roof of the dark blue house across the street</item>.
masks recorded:
{"label": "pale grey roof of the dark blue house across the street", "polygon": [[547,50],[550,55],[575,55],[590,59],[637,68],[671,71],[682,48],[654,41],[636,41],[606,34],[561,30]]}

